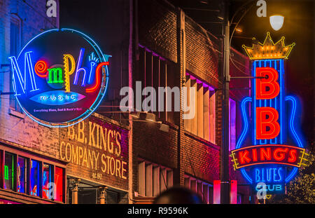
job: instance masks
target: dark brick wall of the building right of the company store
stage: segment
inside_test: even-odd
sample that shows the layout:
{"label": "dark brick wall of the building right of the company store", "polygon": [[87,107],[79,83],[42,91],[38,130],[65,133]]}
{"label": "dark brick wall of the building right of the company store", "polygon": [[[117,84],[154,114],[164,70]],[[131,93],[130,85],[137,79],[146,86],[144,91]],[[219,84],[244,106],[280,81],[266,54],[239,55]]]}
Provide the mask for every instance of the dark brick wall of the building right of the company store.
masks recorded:
{"label": "dark brick wall of the building right of the company store", "polygon": [[[184,22],[184,27],[182,22]],[[182,37],[182,27],[185,29],[185,40]],[[185,76],[185,72],[189,71],[190,74],[209,83],[216,89],[216,140],[215,144],[211,144],[184,130],[184,122],[180,118],[179,113],[177,117],[179,120],[175,121],[179,125],[178,130],[176,130],[178,132],[177,150],[175,145],[172,147],[172,144],[169,144],[169,147],[167,147],[163,143],[163,146],[160,147],[160,143],[165,141],[165,137],[172,136],[161,135],[158,129],[154,130],[152,127],[148,131],[143,129],[144,124],[137,124],[134,126],[133,135],[134,157],[139,158],[141,156],[142,158],[147,158],[148,161],[158,162],[169,167],[172,167],[172,165],[176,167],[175,163],[177,161],[179,168],[174,169],[176,171],[174,184],[183,185],[184,174],[197,177],[197,179],[202,179],[211,184],[214,179],[220,179],[222,69],[219,68],[219,62],[221,57],[221,40],[211,35],[211,33],[207,32],[188,16],[184,15],[183,21],[181,19],[181,11],[178,8],[168,6],[165,1],[150,1],[150,3],[148,1],[139,1],[139,43],[150,48],[153,52],[164,55],[167,59],[176,62],[176,74],[181,76],[178,76],[177,79],[180,79],[180,81],[176,81],[175,84],[182,86],[181,79]],[[183,58],[183,46],[186,46],[185,59]],[[236,50],[232,50],[232,52],[234,54],[232,59],[235,61],[237,68],[231,64],[231,76],[239,76],[239,69],[241,71],[244,70],[244,74],[248,74],[248,68],[246,68],[248,67],[248,60],[246,57]],[[242,75],[244,76],[244,74]],[[247,83],[246,81],[241,83],[239,81],[231,82],[232,88],[237,88],[238,85],[248,87],[248,81]],[[246,95],[248,95],[248,90],[231,90],[230,92],[230,96],[237,101],[237,104]],[[241,123],[239,111],[237,111],[237,116],[237,122]],[[173,137],[175,137],[176,131],[169,132],[169,134],[172,133],[174,134]],[[238,124],[237,136],[240,132],[241,124]],[[159,136],[158,141],[155,141],[157,135]],[[157,145],[158,148],[156,147]],[[170,149],[169,152],[171,154],[177,151],[174,153],[177,154],[177,157],[174,156],[174,160],[170,159],[170,154],[167,154],[167,150],[164,149]],[[160,156],[160,154],[163,155]],[[165,158],[165,155],[167,158]],[[239,183],[245,184],[239,172],[232,170],[232,165],[230,178],[238,179]],[[137,177],[134,177],[134,182],[137,182]],[[136,184],[134,184],[134,188],[137,190]],[[239,190],[244,194],[248,194],[246,188],[239,188]]]}

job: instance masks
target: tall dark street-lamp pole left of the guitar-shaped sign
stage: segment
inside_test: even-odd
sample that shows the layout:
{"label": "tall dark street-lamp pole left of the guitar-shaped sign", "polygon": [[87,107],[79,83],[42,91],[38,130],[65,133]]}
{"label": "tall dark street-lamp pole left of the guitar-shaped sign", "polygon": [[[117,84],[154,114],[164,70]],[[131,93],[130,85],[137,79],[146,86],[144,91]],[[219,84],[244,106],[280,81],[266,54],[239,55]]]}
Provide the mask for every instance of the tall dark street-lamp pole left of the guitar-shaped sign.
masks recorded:
{"label": "tall dark street-lamp pole left of the guitar-shaped sign", "polygon": [[223,130],[221,148],[221,203],[230,203],[229,184],[229,84],[230,84],[230,23],[228,1],[225,0],[224,58],[223,58]]}

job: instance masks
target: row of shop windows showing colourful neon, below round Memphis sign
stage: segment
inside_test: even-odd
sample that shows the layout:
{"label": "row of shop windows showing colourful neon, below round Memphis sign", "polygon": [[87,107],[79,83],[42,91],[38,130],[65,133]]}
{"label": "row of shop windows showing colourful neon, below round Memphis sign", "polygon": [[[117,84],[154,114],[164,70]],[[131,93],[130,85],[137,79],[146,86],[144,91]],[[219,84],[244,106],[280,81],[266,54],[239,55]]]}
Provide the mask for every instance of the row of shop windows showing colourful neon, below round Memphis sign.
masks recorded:
{"label": "row of shop windows showing colourful neon, below round Memphis sign", "polygon": [[64,202],[64,168],[35,160],[23,151],[18,151],[21,156],[13,153],[0,145],[0,179],[4,181],[0,189]]}

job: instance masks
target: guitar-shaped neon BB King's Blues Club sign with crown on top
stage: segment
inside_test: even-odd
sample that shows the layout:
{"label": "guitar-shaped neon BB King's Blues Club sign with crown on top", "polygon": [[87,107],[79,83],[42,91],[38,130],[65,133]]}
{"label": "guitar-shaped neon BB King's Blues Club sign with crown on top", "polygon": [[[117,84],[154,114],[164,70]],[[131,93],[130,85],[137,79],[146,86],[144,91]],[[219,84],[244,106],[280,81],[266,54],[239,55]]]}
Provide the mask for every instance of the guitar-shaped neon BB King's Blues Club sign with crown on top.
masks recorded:
{"label": "guitar-shaped neon BB King's Blues Club sign with crown on top", "polygon": [[269,193],[283,193],[308,155],[296,125],[297,100],[285,94],[283,61],[293,46],[284,46],[284,37],[273,43],[269,32],[264,43],[243,46],[253,60],[252,76],[262,79],[253,79],[252,96],[241,102],[244,128],[231,157],[254,189],[265,182]]}

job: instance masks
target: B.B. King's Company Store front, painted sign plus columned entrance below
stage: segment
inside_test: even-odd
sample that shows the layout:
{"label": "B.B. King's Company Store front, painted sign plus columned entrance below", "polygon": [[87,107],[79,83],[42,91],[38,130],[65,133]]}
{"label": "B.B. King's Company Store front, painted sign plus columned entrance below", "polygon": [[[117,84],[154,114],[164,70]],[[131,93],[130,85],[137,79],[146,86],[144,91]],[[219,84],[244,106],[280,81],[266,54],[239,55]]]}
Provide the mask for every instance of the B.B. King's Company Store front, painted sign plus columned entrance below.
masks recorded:
{"label": "B.B. King's Company Store front, painted sign plus columned entrance below", "polygon": [[90,116],[59,131],[67,203],[128,203],[128,127]]}

